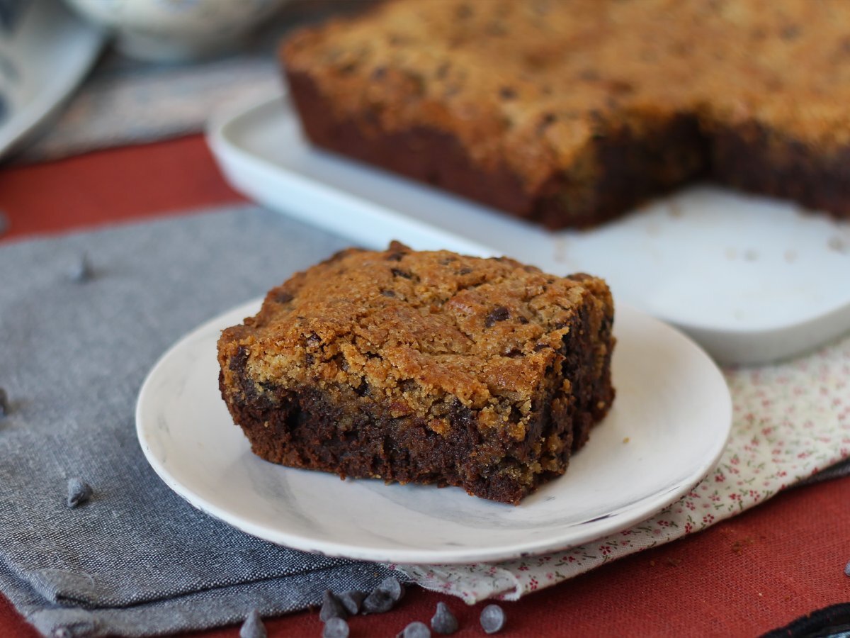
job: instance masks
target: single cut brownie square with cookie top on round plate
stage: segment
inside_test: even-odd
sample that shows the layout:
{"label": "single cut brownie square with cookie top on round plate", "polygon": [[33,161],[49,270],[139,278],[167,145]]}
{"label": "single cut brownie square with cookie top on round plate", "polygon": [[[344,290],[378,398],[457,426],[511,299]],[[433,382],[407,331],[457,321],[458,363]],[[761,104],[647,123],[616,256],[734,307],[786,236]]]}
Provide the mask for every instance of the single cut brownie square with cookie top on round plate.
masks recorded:
{"label": "single cut brownie square with cookie top on round plate", "polygon": [[609,288],[513,259],[350,248],[218,341],[255,454],[518,504],[614,399]]}

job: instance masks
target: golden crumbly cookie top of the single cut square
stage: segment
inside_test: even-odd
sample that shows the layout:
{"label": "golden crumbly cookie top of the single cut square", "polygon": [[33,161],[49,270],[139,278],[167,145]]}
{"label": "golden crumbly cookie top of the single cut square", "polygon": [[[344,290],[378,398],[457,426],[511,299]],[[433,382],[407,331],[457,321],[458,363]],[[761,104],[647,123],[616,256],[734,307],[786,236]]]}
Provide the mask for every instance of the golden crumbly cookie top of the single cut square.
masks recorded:
{"label": "golden crumbly cookie top of the single cut square", "polygon": [[[530,413],[570,320],[587,303],[598,308],[589,327],[598,332],[613,311],[601,279],[550,276],[504,258],[411,253],[400,244],[385,253],[352,248],[271,290],[258,316],[224,332],[219,358],[226,383],[225,363],[245,346],[258,384],[365,382],[394,417],[416,414],[438,431],[447,424],[434,399],[453,396],[482,410],[478,423],[486,427],[518,402]],[[518,440],[523,424],[513,424]]]}

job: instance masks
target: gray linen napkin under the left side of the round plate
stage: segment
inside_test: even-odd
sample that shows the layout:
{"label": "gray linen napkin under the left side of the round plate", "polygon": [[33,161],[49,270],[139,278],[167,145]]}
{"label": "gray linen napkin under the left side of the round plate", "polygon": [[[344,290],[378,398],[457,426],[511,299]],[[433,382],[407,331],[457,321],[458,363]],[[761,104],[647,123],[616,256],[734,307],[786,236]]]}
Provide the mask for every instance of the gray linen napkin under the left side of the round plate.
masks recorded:
{"label": "gray linen napkin under the left side of the round plate", "polygon": [[[0,590],[44,635],[201,629],[387,575],[194,510],[150,469],[133,422],[169,345],[344,245],[242,206],[0,247]],[[71,477],[94,489],[73,509]]]}

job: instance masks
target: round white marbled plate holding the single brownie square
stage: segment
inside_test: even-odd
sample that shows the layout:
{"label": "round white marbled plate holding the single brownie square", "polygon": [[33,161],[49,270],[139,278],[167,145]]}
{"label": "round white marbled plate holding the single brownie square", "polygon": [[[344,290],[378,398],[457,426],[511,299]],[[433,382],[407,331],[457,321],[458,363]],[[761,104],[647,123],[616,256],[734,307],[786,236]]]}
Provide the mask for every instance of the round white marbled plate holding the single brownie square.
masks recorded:
{"label": "round white marbled plate holding the single brownie square", "polygon": [[298,550],[396,563],[496,561],[558,550],[643,521],[711,470],[732,407],[697,345],[619,307],[615,405],[567,473],[518,506],[457,487],[340,481],[255,457],[218,394],[216,340],[241,306],[162,356],[139,393],[144,454],[175,492],[246,533]]}

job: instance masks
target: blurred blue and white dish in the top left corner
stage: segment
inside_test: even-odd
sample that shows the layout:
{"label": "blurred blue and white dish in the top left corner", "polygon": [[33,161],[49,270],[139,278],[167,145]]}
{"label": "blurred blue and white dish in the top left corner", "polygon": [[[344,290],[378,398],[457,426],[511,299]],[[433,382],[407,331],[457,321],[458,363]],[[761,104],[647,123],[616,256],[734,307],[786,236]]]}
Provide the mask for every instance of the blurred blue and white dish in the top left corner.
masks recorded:
{"label": "blurred blue and white dish in the top left corner", "polygon": [[0,157],[77,88],[104,41],[59,0],[0,0]]}

